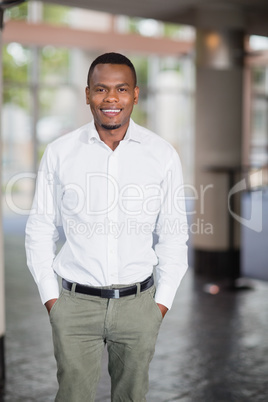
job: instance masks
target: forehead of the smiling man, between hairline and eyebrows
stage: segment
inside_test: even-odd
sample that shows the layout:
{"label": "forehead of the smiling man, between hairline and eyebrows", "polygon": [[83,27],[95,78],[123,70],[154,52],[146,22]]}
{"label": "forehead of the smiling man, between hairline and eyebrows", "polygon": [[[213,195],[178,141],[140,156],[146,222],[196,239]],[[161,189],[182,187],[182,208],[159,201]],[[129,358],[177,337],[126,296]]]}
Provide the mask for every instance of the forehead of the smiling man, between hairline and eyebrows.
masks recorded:
{"label": "forehead of the smiling man, between hairline and eyebrows", "polygon": [[133,72],[125,64],[97,64],[90,78],[91,85],[122,83],[134,86]]}

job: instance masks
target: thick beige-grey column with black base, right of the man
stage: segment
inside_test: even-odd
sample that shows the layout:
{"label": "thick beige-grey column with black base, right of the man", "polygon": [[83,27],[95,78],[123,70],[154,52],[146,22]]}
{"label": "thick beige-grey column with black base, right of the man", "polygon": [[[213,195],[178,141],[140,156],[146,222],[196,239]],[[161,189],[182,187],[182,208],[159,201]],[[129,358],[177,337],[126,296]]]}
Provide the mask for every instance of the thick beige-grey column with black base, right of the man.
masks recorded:
{"label": "thick beige-grey column with black base, right of the man", "polygon": [[197,30],[195,268],[213,276],[239,275],[239,227],[228,193],[241,166],[243,40],[240,28]]}

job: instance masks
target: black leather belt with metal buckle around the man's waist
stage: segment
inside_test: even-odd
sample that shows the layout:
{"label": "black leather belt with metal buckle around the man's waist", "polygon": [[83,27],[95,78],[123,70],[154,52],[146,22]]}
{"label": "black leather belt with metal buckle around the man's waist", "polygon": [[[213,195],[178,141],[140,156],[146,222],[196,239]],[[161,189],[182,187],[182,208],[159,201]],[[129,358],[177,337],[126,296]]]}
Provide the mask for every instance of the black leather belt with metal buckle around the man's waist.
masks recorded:
{"label": "black leather belt with metal buckle around the man's waist", "polygon": [[[149,289],[154,284],[153,275],[149,276],[149,278],[145,279],[145,281],[141,282],[140,291],[143,292],[146,289]],[[72,282],[66,281],[66,279],[62,279],[62,287],[66,290],[72,290]],[[75,286],[75,292],[83,293],[85,295],[91,296],[99,296],[105,299],[119,299],[120,297],[135,295],[137,293],[137,285],[127,286],[125,288],[118,289],[100,289],[86,285],[80,285],[79,283]]]}

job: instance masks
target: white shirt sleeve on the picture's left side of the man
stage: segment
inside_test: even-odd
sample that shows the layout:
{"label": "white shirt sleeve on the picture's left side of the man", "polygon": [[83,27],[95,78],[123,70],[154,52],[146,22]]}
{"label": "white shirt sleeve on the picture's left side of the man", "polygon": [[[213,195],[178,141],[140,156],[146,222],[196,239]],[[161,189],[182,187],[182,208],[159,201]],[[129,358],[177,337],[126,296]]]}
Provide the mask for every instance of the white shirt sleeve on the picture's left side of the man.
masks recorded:
{"label": "white shirt sleeve on the picture's left side of the man", "polygon": [[43,304],[59,296],[57,275],[52,268],[56,255],[56,242],[59,238],[57,182],[50,150],[47,147],[37,175],[25,236],[27,264],[38,286]]}

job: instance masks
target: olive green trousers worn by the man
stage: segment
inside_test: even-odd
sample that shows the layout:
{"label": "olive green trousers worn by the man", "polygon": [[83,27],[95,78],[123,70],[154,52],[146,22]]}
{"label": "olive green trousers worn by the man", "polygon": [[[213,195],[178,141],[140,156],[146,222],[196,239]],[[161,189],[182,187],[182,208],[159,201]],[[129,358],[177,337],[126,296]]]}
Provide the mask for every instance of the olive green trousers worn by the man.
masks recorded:
{"label": "olive green trousers worn by the man", "polygon": [[[118,287],[118,286],[117,286]],[[155,287],[120,299],[62,290],[50,312],[59,390],[55,402],[94,402],[107,344],[112,402],[144,402],[162,314]]]}

